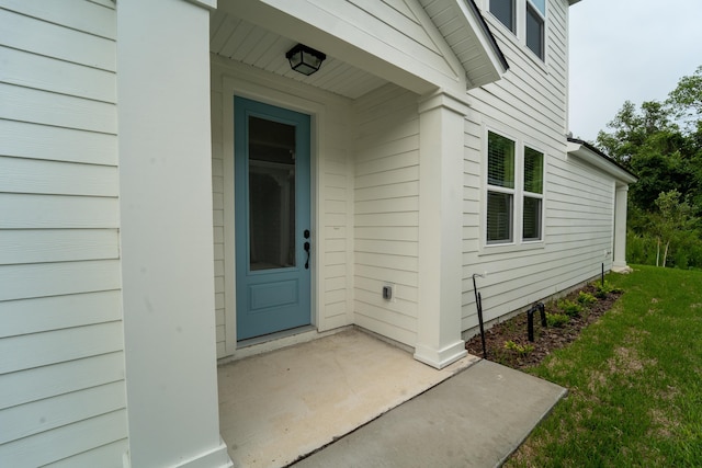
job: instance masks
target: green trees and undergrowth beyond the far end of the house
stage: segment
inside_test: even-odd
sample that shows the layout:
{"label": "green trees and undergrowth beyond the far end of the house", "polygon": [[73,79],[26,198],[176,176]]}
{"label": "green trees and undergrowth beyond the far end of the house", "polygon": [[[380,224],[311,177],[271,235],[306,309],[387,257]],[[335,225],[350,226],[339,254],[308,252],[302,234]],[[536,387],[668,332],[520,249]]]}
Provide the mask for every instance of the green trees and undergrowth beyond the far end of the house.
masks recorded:
{"label": "green trees and undergrowth beyond the far end of the house", "polygon": [[702,66],[665,102],[625,101],[596,146],[638,176],[629,191],[632,251],[702,267]]}

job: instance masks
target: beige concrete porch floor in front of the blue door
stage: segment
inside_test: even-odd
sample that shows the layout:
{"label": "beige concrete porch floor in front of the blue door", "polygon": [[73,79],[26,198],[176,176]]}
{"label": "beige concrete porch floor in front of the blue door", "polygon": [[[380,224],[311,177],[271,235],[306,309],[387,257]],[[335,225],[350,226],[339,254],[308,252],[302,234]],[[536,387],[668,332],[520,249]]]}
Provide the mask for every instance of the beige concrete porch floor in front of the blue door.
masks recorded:
{"label": "beige concrete porch floor in front of the blue door", "polygon": [[286,466],[477,361],[437,370],[356,329],[235,361],[218,368],[220,434],[235,466]]}

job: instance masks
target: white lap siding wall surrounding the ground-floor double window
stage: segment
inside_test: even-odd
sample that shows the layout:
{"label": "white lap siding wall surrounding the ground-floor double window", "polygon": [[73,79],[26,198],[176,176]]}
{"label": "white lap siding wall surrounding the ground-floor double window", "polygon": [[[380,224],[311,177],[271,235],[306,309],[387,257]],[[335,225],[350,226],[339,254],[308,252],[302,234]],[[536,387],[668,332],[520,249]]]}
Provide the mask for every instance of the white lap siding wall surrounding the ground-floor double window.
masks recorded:
{"label": "white lap siding wall surrounding the ground-floor double window", "polygon": [[[614,182],[598,170],[566,157],[566,14],[561,0],[548,1],[546,61],[489,14],[500,48],[510,64],[503,79],[471,91],[474,112],[465,124],[463,204],[463,329],[477,326],[472,275],[483,296],[485,319],[497,319],[591,278],[601,263],[611,265]],[[503,253],[480,250],[485,229],[485,128],[496,127],[546,153],[544,243]]]}

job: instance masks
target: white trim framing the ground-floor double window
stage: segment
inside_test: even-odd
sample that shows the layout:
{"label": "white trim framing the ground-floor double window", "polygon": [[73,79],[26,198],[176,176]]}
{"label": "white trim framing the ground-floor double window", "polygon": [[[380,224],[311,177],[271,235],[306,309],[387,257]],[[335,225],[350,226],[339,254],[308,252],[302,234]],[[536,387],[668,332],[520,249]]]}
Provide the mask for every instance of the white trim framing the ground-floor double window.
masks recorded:
{"label": "white trim framing the ground-floor double window", "polygon": [[[514,141],[514,189],[505,189],[490,185],[488,183],[488,132],[500,135]],[[480,158],[483,163],[480,169],[480,222],[479,222],[479,248],[478,255],[521,252],[532,249],[544,249],[546,244],[546,192],[547,180],[546,174],[548,164],[548,153],[542,145],[525,138],[516,130],[500,128],[496,125],[483,126],[483,148]],[[543,155],[542,167],[542,193],[534,194],[524,191],[524,147],[529,147]],[[488,243],[487,241],[487,193],[500,192],[512,194],[513,213],[512,213],[512,240],[509,242]],[[524,196],[541,198],[541,239],[523,239],[523,215],[524,215]]]}

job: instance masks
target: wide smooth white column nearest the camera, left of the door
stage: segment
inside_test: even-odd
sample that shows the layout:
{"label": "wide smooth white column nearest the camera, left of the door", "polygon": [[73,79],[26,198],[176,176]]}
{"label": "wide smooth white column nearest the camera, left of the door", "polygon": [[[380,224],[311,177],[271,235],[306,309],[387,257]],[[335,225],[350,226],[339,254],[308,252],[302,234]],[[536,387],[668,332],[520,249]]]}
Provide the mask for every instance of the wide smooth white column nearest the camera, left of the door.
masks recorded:
{"label": "wide smooth white column nearest the camera, left of the door", "polygon": [[215,0],[120,0],[121,258],[132,467],[231,466],[219,438],[210,137]]}

